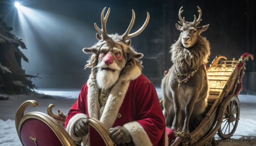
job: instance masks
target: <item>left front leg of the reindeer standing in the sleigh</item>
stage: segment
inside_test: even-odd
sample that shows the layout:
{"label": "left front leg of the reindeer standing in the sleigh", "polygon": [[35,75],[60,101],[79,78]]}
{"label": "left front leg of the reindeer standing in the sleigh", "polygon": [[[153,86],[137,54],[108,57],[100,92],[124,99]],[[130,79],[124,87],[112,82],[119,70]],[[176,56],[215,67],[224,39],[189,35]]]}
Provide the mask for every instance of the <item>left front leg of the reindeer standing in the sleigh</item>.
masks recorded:
{"label": "left front leg of the reindeer standing in the sleigh", "polygon": [[181,94],[179,91],[172,93],[175,116],[172,122],[172,129],[179,130],[179,117],[181,116]]}

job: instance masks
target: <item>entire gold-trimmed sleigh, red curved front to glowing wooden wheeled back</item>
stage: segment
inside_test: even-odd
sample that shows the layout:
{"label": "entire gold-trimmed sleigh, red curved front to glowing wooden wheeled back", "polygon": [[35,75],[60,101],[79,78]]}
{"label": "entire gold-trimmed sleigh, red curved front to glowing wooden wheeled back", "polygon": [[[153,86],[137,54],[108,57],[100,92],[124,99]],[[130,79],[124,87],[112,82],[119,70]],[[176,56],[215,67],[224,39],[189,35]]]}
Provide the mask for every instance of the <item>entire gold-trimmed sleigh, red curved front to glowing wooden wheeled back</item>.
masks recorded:
{"label": "entire gold-trimmed sleigh, red curved front to glowing wooden wheeled back", "polygon": [[[216,57],[209,68],[208,106],[204,119],[197,128],[190,132],[175,132],[177,136],[171,146],[216,146],[214,136],[217,133],[222,139],[230,138],[236,131],[240,115],[239,92],[242,89],[242,78],[246,61],[253,55],[244,53],[239,60],[227,60],[224,56]],[[162,100],[160,100],[160,103]],[[66,115],[58,110],[52,113],[49,105],[47,114],[30,112],[24,115],[25,109],[38,106],[35,100],[25,101],[17,110],[15,126],[21,143],[24,146],[77,146],[64,129]],[[89,120],[89,126],[96,129],[106,146],[115,145],[109,137],[109,130],[96,119]]]}

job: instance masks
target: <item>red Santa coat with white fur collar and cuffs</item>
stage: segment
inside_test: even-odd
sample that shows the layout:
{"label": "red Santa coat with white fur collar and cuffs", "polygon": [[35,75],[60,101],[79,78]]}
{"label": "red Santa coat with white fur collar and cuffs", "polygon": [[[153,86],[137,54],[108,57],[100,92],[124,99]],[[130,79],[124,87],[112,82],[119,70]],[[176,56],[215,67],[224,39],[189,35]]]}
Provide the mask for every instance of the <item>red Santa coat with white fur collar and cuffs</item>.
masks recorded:
{"label": "red Santa coat with white fur collar and cuffs", "polygon": [[[87,143],[87,136],[74,135],[74,124],[81,117],[93,117],[108,129],[124,126],[136,146],[168,145],[165,120],[157,92],[138,67],[119,77],[105,106],[100,108],[98,99],[96,81],[89,77],[66,119],[65,128],[73,140],[82,141],[82,145]],[[103,140],[97,136],[90,130],[90,146],[104,145]]]}

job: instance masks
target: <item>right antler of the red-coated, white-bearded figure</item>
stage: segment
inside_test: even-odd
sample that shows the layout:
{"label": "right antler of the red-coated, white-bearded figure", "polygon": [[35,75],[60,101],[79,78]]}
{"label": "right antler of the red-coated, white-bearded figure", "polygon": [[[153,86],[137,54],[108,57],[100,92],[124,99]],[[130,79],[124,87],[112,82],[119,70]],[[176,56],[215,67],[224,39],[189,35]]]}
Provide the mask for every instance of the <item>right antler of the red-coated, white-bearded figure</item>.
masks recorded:
{"label": "right antler of the red-coated, white-bearded figure", "polygon": [[130,23],[128,29],[122,35],[122,39],[123,40],[127,40],[129,38],[136,37],[137,35],[139,35],[145,29],[145,27],[148,25],[148,21],[149,21],[149,14],[148,14],[148,12],[147,12],[147,18],[146,18],[145,23],[143,24],[143,26],[139,30],[137,30],[136,32],[134,32],[132,34],[129,34],[130,31],[131,31],[132,26],[134,25],[134,21],[135,21],[135,12],[134,12],[134,10],[132,10],[131,23]]}

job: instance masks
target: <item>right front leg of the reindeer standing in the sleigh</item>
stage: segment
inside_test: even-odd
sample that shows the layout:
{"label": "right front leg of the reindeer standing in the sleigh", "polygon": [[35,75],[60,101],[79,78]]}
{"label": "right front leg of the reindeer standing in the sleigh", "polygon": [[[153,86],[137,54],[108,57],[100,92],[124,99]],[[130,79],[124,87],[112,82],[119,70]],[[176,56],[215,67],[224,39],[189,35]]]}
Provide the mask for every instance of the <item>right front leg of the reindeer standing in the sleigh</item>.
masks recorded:
{"label": "right front leg of the reindeer standing in the sleigh", "polygon": [[196,92],[194,92],[194,94],[192,94],[188,97],[188,102],[185,107],[185,116],[186,117],[184,120],[183,129],[182,129],[182,131],[184,131],[184,132],[189,133],[189,119],[193,112],[193,108],[194,108],[196,100],[198,99],[198,96],[199,96],[199,92],[196,91]]}

